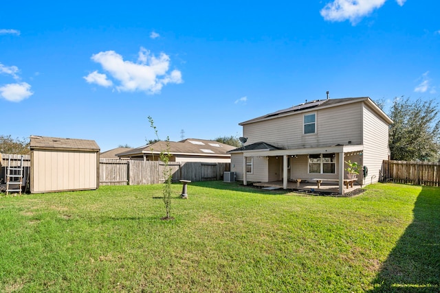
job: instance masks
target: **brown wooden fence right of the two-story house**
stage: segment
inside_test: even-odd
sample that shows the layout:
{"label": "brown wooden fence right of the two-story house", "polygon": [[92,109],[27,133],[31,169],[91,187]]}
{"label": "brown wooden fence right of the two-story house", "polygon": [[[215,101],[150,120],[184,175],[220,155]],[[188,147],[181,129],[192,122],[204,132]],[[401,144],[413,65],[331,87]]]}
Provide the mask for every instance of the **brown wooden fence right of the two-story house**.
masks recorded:
{"label": "brown wooden fence right of the two-story house", "polygon": [[382,181],[415,185],[440,185],[440,163],[384,161]]}

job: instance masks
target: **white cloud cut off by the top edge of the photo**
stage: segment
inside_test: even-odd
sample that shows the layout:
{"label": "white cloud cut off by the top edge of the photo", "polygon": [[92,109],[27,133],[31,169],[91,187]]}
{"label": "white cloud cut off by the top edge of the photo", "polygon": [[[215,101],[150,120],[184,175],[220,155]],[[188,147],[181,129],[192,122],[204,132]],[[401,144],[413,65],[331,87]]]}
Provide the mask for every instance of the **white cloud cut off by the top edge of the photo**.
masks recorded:
{"label": "white cloud cut off by the top edge of the photo", "polygon": [[[355,25],[362,17],[382,7],[386,0],[334,0],[320,11],[326,21],[347,21]],[[396,0],[400,6],[406,0]]]}

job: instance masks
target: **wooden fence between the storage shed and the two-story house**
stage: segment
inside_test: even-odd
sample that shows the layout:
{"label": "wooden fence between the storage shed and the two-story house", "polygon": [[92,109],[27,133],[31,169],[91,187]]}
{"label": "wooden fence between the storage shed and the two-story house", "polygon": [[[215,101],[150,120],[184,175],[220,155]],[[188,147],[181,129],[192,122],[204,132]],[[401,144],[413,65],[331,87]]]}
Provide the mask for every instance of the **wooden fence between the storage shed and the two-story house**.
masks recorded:
{"label": "wooden fence between the storage shed and the two-story house", "polygon": [[[164,164],[159,161],[100,159],[100,185],[149,185],[163,183]],[[221,180],[230,163],[170,162],[173,182]]]}

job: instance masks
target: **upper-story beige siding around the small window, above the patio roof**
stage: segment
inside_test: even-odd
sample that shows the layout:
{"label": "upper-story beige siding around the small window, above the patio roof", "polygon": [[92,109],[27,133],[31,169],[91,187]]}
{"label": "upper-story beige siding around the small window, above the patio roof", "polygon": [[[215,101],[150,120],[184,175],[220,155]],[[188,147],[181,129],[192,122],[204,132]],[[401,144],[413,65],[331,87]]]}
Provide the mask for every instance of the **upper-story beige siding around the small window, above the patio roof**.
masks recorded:
{"label": "upper-story beige siding around the small window, above the patio roof", "polygon": [[[303,134],[304,114],[316,113],[316,134]],[[316,148],[362,141],[361,102],[301,112],[243,126],[247,144],[264,141],[278,148]]]}

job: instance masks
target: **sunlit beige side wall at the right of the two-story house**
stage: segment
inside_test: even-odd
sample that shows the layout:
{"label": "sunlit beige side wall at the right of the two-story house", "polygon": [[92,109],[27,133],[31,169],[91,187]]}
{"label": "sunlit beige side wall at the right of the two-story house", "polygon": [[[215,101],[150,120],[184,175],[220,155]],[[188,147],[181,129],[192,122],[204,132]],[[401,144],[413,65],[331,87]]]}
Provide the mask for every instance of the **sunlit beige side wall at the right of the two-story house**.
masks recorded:
{"label": "sunlit beige side wall at the right of the two-story house", "polygon": [[382,161],[388,159],[388,124],[368,106],[364,106],[363,163],[369,169],[365,184],[377,183]]}

